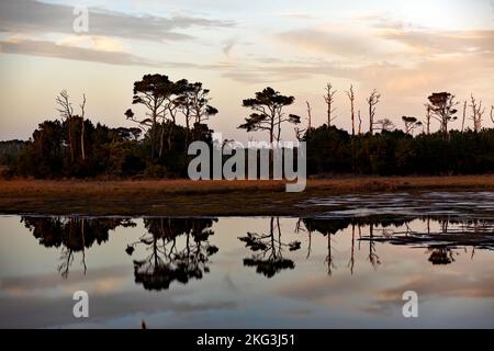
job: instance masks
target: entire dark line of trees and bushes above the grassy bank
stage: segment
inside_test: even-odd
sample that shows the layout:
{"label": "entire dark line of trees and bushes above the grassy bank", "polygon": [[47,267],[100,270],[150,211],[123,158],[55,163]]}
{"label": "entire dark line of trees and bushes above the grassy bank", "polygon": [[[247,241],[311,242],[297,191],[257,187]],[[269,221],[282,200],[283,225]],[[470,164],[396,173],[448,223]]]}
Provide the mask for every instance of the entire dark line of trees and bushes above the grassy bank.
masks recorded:
{"label": "entire dark line of trees and bushes above the grassy bank", "polygon": [[[0,162],[7,176],[35,178],[184,178],[190,143],[212,144],[209,120],[218,113],[211,91],[201,82],[170,80],[165,75],[145,75],[133,87],[132,104],[124,117],[135,127],[93,124],[86,116],[86,95],[77,104],[67,91],[56,98],[58,118],[38,125],[27,141],[0,144]],[[449,92],[427,98],[424,117],[402,116],[398,129],[389,118],[377,118],[381,93],[367,98],[367,111],[356,110],[356,90],[345,91],[349,101],[351,133],[335,126],[337,90],[326,86],[326,123],[314,127],[313,111],[306,116],[289,113],[295,102],[268,87],[245,99],[250,110],[238,128],[266,133],[280,141],[282,129],[292,126],[299,140],[307,143],[310,174],[450,174],[494,171],[494,129],[485,127],[486,110],[472,94],[459,103]],[[494,123],[494,107],[490,117]],[[367,122],[363,121],[366,115]],[[461,128],[452,129],[453,121]],[[433,122],[439,129],[433,132]],[[469,121],[472,121],[470,124]],[[468,125],[471,125],[469,127]]]}

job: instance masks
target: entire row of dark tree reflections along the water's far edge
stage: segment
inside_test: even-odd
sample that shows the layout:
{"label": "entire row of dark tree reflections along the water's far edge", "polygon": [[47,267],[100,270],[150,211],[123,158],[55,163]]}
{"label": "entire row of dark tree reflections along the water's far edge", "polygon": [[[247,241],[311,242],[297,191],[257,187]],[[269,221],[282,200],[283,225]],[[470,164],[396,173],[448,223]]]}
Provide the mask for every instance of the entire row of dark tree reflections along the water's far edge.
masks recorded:
{"label": "entire row of dark tree reflections along the water's far edge", "polygon": [[[412,226],[416,220],[420,228]],[[245,267],[256,268],[256,272],[272,278],[283,270],[295,269],[295,261],[287,258],[290,252],[300,250],[300,240],[282,240],[279,217],[266,218],[267,231],[247,231],[238,239],[245,242],[252,254],[244,258]],[[109,240],[109,231],[116,227],[135,227],[131,219],[23,216],[21,222],[29,228],[40,245],[61,248],[58,272],[67,278],[76,252],[81,253],[81,265],[86,273],[86,250],[94,242],[101,245]],[[144,257],[134,259],[134,278],[146,290],[168,290],[175,281],[187,284],[191,279],[201,280],[210,271],[210,257],[218,248],[210,244],[214,234],[216,218],[145,218],[145,233],[137,241],[127,245],[125,251],[135,256],[137,248]],[[436,229],[431,229],[431,226]],[[494,250],[494,219],[451,220],[448,216],[403,217],[367,216],[344,218],[301,218],[294,233],[307,238],[306,259],[311,259],[312,237],[321,234],[326,238],[327,274],[337,269],[333,236],[351,228],[347,268],[353,274],[356,252],[367,251],[367,261],[374,268],[382,263],[377,244],[425,248],[427,260],[434,265],[450,264],[461,251],[475,248]],[[358,244],[358,245],[357,245]],[[362,248],[361,245],[364,245]],[[139,254],[141,254],[139,250]]]}

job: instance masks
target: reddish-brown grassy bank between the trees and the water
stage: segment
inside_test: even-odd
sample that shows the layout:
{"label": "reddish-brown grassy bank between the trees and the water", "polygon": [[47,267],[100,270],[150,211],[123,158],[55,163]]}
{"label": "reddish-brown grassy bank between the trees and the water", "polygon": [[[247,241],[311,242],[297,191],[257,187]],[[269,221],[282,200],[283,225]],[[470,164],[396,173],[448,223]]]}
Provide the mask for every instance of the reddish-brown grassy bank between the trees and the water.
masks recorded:
{"label": "reddish-brown grassy bank between the trees and the water", "polygon": [[310,180],[285,193],[280,181],[41,181],[0,180],[0,213],[54,215],[301,216],[311,197],[364,192],[493,190],[494,176],[338,178]]}

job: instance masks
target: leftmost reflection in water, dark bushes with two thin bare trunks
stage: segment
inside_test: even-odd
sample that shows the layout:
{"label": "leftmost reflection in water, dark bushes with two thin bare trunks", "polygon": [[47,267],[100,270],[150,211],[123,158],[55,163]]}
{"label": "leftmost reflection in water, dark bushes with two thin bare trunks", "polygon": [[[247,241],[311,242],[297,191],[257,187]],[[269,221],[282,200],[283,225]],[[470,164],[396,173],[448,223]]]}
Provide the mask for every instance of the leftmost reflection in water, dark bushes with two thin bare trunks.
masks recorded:
{"label": "leftmost reflection in water, dark bushes with two thin bare trunks", "polygon": [[60,263],[57,271],[64,279],[69,275],[75,254],[81,253],[80,264],[87,273],[86,249],[94,244],[108,241],[109,231],[119,226],[135,226],[130,219],[123,218],[87,218],[70,217],[34,217],[23,216],[21,223],[33,233],[40,245],[46,248],[60,248]]}

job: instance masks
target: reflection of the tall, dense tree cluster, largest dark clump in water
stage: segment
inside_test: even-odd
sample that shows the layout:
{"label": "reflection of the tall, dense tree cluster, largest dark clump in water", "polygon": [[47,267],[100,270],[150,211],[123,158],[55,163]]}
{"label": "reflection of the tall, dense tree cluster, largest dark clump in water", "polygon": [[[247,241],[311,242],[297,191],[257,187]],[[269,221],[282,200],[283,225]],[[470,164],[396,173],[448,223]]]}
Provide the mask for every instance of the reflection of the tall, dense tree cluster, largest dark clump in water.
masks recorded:
{"label": "reflection of the tall, dense tree cluster, largest dark clump in water", "polygon": [[134,260],[135,282],[146,290],[168,290],[173,281],[187,284],[209,272],[209,258],[218,251],[209,242],[217,219],[210,218],[146,218],[147,233],[127,246],[133,254],[137,246],[150,253]]}

